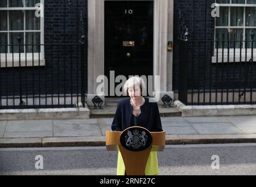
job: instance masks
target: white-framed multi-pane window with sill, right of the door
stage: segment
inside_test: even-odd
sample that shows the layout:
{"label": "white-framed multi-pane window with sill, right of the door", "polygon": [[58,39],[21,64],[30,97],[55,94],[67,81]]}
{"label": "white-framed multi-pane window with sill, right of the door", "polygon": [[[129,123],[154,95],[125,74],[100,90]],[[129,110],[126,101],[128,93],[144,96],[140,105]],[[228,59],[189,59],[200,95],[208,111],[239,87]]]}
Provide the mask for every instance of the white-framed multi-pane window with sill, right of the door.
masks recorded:
{"label": "white-framed multi-pane window with sill, right of the door", "polygon": [[[216,3],[220,5],[220,17],[215,19],[215,39],[218,43],[215,43],[214,56],[217,55],[218,49],[218,55],[221,56],[220,61],[222,61],[222,53],[224,51],[224,56],[227,56],[229,45],[230,61],[240,61],[240,47],[242,61],[250,60],[252,30],[254,30],[254,39],[256,39],[256,0],[217,0]],[[240,43],[240,38],[242,43]],[[255,49],[253,53],[256,56],[256,42],[253,46]],[[245,51],[247,51],[247,60],[245,60]]]}

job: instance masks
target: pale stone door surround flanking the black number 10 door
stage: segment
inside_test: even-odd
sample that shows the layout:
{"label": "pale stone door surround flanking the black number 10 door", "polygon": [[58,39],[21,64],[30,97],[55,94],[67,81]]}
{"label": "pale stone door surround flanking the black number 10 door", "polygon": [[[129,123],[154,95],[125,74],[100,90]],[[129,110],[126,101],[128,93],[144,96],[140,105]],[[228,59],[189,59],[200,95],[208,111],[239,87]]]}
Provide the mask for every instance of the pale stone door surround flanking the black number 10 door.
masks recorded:
{"label": "pale stone door surround flanking the black number 10 door", "polygon": [[[88,94],[87,105],[93,106],[96,96],[96,78],[104,75],[104,2],[88,1]],[[126,1],[126,0],[124,0]],[[173,41],[174,0],[154,1],[154,62],[153,75],[160,75],[160,98],[168,94],[173,98],[173,53],[167,51],[167,42]],[[105,102],[105,97],[100,96]]]}

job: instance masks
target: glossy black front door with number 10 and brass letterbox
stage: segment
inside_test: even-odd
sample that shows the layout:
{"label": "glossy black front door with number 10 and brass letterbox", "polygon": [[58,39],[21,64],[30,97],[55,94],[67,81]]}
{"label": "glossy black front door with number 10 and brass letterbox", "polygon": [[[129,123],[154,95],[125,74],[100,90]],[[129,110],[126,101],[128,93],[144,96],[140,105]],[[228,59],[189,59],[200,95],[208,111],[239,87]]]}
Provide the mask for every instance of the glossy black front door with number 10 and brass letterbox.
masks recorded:
{"label": "glossy black front door with number 10 and brass letterbox", "polygon": [[105,1],[108,78],[110,71],[127,79],[129,75],[153,75],[153,1]]}

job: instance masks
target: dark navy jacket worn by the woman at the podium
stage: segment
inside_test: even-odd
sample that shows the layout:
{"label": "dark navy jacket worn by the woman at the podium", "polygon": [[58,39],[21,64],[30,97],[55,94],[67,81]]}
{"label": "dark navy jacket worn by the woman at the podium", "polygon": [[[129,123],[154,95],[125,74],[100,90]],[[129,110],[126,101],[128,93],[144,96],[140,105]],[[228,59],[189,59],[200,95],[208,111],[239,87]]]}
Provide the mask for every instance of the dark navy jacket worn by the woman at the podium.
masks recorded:
{"label": "dark navy jacket worn by the woman at the podium", "polygon": [[[149,102],[145,98],[145,103],[140,107],[143,125],[149,131],[163,131],[157,102]],[[131,127],[133,107],[130,99],[123,99],[117,105],[116,114],[112,123],[113,131],[123,131]]]}

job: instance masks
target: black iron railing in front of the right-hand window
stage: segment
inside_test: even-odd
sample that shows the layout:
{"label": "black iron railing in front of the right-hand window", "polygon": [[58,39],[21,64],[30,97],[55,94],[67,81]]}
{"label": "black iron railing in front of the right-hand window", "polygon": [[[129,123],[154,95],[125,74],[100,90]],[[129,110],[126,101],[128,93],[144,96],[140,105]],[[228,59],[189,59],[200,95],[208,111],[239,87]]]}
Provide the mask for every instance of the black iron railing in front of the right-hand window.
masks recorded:
{"label": "black iron railing in front of the right-hand window", "polygon": [[178,15],[178,99],[185,105],[255,104],[254,30],[247,36],[233,32],[193,38],[181,11]]}

